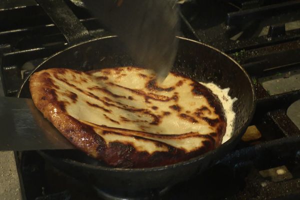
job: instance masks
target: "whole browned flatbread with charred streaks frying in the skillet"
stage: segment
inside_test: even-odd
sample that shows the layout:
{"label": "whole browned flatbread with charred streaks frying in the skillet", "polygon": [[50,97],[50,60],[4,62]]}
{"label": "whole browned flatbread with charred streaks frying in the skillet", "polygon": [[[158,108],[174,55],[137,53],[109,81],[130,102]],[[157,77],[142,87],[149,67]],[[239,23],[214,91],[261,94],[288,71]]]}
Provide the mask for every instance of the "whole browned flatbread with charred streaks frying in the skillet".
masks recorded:
{"label": "whole browned flatbread with charred streaks frying in the skillet", "polygon": [[35,106],[71,143],[115,167],[187,160],[221,143],[226,120],[204,85],[170,73],[161,85],[138,67],[35,72]]}

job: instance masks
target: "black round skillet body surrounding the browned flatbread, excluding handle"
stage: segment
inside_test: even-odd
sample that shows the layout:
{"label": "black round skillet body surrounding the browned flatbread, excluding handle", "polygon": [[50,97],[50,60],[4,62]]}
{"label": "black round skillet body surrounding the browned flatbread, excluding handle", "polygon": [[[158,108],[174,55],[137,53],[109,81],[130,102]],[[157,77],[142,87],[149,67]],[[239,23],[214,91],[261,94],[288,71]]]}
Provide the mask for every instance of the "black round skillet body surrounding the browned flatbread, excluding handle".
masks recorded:
{"label": "black round skillet body surrounding the browned flatbread, excluding handle", "polygon": [[[244,69],[226,54],[206,44],[178,37],[179,48],[173,71],[197,81],[214,82],[229,87],[236,97],[236,113],[232,137],[216,149],[172,165],[151,168],[113,168],[88,157],[78,150],[43,150],[39,153],[62,171],[104,190],[136,193],[163,188],[186,180],[214,163],[239,141],[254,111],[253,85]],[[69,47],[41,63],[33,72],[52,67],[91,70],[103,67],[138,66],[121,48],[116,36],[108,36]],[[32,73],[33,73],[32,72]],[[30,97],[28,78],[20,88],[19,97]]]}

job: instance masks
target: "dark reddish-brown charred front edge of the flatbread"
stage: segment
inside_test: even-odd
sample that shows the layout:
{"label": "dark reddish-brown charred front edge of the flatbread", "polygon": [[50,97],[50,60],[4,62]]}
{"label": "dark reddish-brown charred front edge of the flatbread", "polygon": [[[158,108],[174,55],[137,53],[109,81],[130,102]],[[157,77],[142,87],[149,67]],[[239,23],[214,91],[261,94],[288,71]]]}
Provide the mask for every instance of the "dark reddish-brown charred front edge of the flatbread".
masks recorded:
{"label": "dark reddish-brown charred front edge of the flatbread", "polygon": [[[105,132],[106,134],[109,133]],[[135,138],[139,138],[136,136]],[[173,164],[201,155],[214,148],[214,140],[210,136],[205,136],[207,140],[202,142],[203,146],[186,153],[184,150],[170,146],[163,142],[155,142],[156,146],[165,145],[168,151],[154,151],[148,153],[146,151],[138,151],[131,142],[108,142],[107,145],[103,139],[99,138],[98,158],[104,160],[108,165],[117,167],[152,167],[166,164]]]}

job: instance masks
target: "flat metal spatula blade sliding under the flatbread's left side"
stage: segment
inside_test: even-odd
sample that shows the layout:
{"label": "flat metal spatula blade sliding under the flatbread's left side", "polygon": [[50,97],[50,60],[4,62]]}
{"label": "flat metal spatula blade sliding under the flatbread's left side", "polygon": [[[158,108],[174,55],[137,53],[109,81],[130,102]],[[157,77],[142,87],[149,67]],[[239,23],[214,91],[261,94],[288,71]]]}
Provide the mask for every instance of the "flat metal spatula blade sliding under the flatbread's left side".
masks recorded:
{"label": "flat metal spatula blade sliding under the flatbread's left side", "polygon": [[0,151],[74,148],[29,98],[0,96],[0,122]]}

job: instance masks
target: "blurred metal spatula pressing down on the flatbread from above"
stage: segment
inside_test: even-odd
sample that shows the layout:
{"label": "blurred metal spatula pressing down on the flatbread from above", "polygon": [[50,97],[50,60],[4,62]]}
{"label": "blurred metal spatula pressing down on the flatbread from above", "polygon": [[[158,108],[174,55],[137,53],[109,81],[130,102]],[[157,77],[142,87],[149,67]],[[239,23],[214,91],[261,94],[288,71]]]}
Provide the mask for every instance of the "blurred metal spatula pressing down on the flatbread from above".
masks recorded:
{"label": "blurred metal spatula pressing down on the flatbread from above", "polygon": [[117,34],[131,57],[163,80],[177,51],[175,0],[82,0],[106,28]]}

